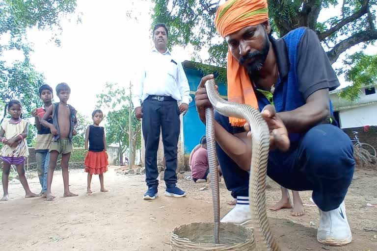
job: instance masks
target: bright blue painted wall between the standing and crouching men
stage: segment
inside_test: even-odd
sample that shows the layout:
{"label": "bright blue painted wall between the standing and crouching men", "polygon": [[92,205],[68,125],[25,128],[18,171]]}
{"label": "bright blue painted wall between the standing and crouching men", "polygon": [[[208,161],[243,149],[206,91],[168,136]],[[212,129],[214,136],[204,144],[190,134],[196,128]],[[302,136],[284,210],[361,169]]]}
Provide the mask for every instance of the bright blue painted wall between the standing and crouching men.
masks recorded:
{"label": "bright blue painted wall between the standing and crouching men", "polygon": [[[201,137],[206,134],[206,127],[199,119],[194,99],[196,88],[198,87],[203,75],[199,70],[196,69],[184,67],[184,70],[188,78],[188,84],[190,86],[190,93],[192,98],[192,102],[188,106],[188,112],[185,116],[183,116],[185,153],[190,153],[192,149],[200,143]],[[225,84],[217,83],[217,85],[220,95],[226,96],[227,89]]]}

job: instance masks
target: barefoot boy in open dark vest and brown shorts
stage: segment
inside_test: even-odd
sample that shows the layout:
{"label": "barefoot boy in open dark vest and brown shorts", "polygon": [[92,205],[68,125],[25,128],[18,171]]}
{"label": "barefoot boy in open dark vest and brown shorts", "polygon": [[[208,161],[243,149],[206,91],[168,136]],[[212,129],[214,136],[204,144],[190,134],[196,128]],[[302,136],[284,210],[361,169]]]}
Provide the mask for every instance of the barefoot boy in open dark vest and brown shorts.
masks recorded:
{"label": "barefoot boy in open dark vest and brown shorts", "polygon": [[[54,171],[56,167],[57,157],[61,153],[61,170],[64,183],[64,197],[78,196],[69,191],[68,163],[71,157],[72,136],[76,135],[77,128],[77,111],[71,105],[67,104],[71,94],[71,88],[66,83],[60,83],[56,86],[56,94],[60,102],[53,103],[43,118],[41,124],[49,127],[54,135],[54,141],[50,147],[50,165],[47,172],[47,193],[48,201],[54,200],[55,196],[51,193],[51,184],[53,182]],[[53,124],[48,123],[47,119],[53,116]]]}

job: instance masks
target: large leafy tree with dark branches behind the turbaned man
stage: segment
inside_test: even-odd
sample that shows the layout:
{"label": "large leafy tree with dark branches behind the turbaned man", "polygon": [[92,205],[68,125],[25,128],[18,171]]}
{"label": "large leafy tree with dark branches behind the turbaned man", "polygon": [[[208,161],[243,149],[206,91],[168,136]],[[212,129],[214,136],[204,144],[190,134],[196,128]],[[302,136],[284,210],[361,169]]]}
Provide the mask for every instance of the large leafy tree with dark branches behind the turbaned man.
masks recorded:
{"label": "large leafy tree with dark branches behind the turbaned man", "polygon": [[[215,29],[214,20],[219,0],[153,0],[153,24],[163,22],[170,29],[169,46],[192,45],[192,59],[226,67],[227,45]],[[377,39],[377,0],[268,0],[269,21],[277,36],[308,26],[317,32],[331,63],[355,45],[364,47]],[[335,11],[340,6],[340,11]],[[333,16],[319,21],[323,11],[333,9]],[[202,60],[199,52],[208,48],[209,58]],[[204,74],[210,67],[198,64]],[[224,80],[223,69],[218,77]]]}

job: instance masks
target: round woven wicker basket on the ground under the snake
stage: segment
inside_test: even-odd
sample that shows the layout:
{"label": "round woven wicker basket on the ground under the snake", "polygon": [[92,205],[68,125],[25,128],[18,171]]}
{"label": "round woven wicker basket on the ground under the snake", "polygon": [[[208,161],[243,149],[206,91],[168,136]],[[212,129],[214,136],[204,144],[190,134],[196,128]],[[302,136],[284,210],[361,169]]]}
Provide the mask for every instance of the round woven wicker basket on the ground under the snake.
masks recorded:
{"label": "round woven wicker basket on the ground under the snake", "polygon": [[191,223],[176,227],[170,238],[171,251],[255,251],[251,229],[220,223],[220,244],[214,244],[213,223]]}

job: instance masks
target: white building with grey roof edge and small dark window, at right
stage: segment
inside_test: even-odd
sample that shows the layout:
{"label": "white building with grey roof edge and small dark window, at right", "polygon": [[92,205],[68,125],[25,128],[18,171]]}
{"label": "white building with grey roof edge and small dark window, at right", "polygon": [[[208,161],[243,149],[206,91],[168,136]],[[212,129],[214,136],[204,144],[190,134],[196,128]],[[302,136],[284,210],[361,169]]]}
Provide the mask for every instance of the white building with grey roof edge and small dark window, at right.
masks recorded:
{"label": "white building with grey roof edge and small dark window, at right", "polygon": [[377,126],[377,85],[360,89],[358,100],[341,99],[338,94],[342,89],[330,92],[334,117],[341,128]]}

